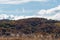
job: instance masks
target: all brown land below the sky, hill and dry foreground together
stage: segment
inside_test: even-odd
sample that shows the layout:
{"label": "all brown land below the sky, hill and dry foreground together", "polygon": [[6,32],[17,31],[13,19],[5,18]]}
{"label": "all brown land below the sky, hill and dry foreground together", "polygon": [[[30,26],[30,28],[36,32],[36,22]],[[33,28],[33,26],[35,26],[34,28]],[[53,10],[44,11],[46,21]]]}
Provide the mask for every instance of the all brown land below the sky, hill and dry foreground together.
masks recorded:
{"label": "all brown land below the sky, hill and dry foreground together", "polygon": [[0,40],[59,40],[60,21],[45,18],[0,20]]}

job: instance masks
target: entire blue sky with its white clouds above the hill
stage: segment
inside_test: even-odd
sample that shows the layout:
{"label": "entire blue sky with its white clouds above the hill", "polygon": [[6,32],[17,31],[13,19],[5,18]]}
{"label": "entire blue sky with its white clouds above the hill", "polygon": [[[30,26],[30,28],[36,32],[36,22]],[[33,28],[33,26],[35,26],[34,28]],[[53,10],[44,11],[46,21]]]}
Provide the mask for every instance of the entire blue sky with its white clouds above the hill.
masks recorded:
{"label": "entire blue sky with its white clouds above the hill", "polygon": [[0,19],[31,17],[60,20],[60,0],[0,0]]}

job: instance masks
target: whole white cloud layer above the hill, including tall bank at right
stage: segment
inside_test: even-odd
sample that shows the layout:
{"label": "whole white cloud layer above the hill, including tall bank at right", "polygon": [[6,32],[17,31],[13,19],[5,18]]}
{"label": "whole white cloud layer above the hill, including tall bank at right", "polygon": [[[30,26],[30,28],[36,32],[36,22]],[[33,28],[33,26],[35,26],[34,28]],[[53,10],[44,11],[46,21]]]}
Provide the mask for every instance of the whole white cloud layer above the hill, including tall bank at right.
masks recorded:
{"label": "whole white cloud layer above the hill, including tall bank at right", "polygon": [[0,20],[1,19],[18,20],[18,19],[32,18],[32,17],[39,17],[39,18],[42,17],[42,18],[60,20],[60,5],[47,10],[41,9],[35,15],[31,15],[31,16],[0,14]]}

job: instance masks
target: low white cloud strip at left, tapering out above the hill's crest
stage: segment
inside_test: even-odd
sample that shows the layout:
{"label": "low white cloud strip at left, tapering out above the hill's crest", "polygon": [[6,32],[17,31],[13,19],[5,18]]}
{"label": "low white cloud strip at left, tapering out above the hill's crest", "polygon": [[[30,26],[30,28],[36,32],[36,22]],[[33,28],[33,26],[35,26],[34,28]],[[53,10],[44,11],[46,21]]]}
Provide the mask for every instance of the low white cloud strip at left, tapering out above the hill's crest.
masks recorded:
{"label": "low white cloud strip at left, tapering out above the hill's crest", "polygon": [[32,17],[39,17],[39,16],[17,16],[17,15],[7,15],[7,14],[0,14],[0,20],[2,19],[9,19],[9,20],[18,20],[18,19],[26,19],[26,18],[32,18]]}

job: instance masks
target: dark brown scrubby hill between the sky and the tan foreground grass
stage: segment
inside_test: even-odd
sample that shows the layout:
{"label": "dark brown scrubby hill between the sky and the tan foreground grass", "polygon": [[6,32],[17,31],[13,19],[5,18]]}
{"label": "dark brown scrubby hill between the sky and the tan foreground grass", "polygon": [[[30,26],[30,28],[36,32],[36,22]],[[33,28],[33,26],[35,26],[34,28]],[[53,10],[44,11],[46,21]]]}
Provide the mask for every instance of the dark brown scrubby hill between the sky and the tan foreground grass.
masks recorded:
{"label": "dark brown scrubby hill between the sky and the tan foreground grass", "polygon": [[60,21],[45,18],[27,18],[20,20],[0,20],[0,36],[11,34],[56,34],[60,35]]}

